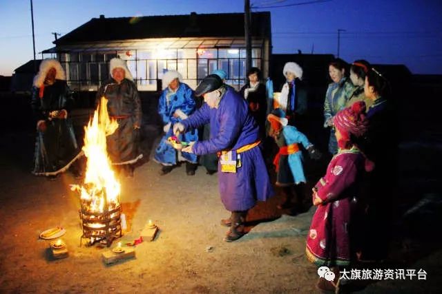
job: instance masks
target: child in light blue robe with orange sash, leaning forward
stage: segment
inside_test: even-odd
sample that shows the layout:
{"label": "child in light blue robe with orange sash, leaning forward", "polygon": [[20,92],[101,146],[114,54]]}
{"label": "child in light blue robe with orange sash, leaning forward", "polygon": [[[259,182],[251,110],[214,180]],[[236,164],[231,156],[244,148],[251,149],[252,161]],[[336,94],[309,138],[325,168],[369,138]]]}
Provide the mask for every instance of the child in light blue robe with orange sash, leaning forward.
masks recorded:
{"label": "child in light blue robe with orange sash, leaning forward", "polygon": [[[267,116],[269,120],[269,136],[271,136],[279,147],[278,154],[273,160],[276,167],[276,186],[282,187],[285,193],[285,201],[278,205],[278,209],[293,209],[292,204],[293,189],[296,194],[296,212],[301,212],[307,206],[307,200],[304,199],[305,180],[304,168],[302,167],[302,151],[299,144],[302,144],[309,152],[312,159],[319,159],[321,154],[313,144],[309,142],[307,136],[302,134],[292,125],[287,125],[288,120],[285,112],[280,109],[274,109]],[[308,198],[308,203],[311,202]],[[291,211],[294,212],[294,211]]]}

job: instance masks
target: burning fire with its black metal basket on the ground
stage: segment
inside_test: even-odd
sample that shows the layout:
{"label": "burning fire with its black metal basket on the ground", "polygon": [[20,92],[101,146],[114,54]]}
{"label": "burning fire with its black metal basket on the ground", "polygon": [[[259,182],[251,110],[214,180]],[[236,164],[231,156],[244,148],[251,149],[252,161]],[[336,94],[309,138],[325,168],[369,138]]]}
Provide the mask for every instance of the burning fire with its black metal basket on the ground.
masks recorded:
{"label": "burning fire with its black metal basket on the ground", "polygon": [[72,185],[71,189],[80,194],[81,238],[88,238],[90,244],[102,242],[111,246],[113,240],[122,237],[122,207],[120,185],[106,151],[106,136],[113,134],[118,124],[109,118],[106,104],[102,97],[85,127],[82,149],[87,158],[86,176],[83,185]]}

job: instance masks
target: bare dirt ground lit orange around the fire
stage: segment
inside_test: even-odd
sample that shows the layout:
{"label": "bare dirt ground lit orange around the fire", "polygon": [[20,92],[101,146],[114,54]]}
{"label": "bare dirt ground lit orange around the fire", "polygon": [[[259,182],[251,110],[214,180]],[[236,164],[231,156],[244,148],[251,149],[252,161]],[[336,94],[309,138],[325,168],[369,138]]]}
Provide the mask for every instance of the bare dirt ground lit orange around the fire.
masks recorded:
{"label": "bare dirt ground lit orange around the fire", "polygon": [[[183,165],[159,176],[152,160],[134,178],[121,178],[129,224],[121,241],[137,239],[148,220],[160,233],[138,244],[135,258],[105,265],[101,255],[107,248],[79,246],[79,198],[68,187],[79,181],[70,174],[52,182],[32,176],[33,142],[29,132],[1,135],[0,293],[317,293],[316,266],[304,253],[314,208],[281,216],[277,195],[251,211],[247,220],[256,225],[247,235],[223,242],[227,228],[220,219],[228,213],[216,174],[199,167],[195,176],[186,176]],[[39,240],[41,231],[54,226],[66,229],[66,259],[52,260],[49,242]],[[396,253],[395,264],[380,267],[424,269],[427,280],[373,282],[360,293],[436,293],[440,246],[407,260],[401,249]]]}

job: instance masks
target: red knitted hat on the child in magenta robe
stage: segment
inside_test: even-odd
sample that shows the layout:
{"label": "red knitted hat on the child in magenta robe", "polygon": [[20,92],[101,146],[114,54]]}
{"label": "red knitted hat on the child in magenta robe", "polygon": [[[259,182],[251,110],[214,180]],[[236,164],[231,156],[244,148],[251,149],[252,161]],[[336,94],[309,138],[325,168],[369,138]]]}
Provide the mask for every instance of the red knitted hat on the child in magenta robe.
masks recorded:
{"label": "red knitted hat on the child in magenta robe", "polygon": [[365,103],[358,101],[352,106],[342,109],[333,118],[336,129],[346,140],[350,140],[350,135],[362,136],[368,127],[368,120],[365,117]]}

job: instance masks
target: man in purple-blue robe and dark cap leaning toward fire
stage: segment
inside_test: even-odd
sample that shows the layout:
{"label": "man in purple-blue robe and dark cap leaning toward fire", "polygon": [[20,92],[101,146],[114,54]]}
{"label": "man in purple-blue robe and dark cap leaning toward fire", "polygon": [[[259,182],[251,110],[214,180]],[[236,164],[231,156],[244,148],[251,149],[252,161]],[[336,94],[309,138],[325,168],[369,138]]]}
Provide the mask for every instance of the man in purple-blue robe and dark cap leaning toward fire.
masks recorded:
{"label": "man in purple-blue robe and dark cap leaning toward fire", "polygon": [[221,201],[231,216],[221,223],[230,227],[224,238],[241,238],[247,211],[256,200],[273,195],[269,175],[262,158],[258,125],[249,114],[249,105],[233,88],[222,83],[216,74],[206,76],[195,90],[204,96],[204,105],[189,118],[173,125],[179,134],[210,123],[209,140],[192,142],[182,149],[196,155],[218,152],[218,183]]}

